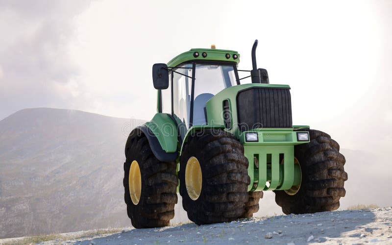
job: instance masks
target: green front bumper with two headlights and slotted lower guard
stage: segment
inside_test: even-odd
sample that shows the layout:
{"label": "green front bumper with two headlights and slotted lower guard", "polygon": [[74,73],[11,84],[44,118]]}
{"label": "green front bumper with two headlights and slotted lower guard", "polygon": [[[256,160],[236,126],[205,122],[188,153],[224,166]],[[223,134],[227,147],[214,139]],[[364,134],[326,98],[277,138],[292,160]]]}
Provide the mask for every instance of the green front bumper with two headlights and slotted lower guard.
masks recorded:
{"label": "green front bumper with two headlights and slotted lower guard", "polygon": [[[246,133],[257,133],[257,141],[246,141]],[[307,141],[299,141],[297,133],[308,134]],[[309,143],[309,132],[293,129],[242,132],[240,142],[249,161],[248,191],[289,190],[301,182],[301,171],[294,165],[294,146]]]}

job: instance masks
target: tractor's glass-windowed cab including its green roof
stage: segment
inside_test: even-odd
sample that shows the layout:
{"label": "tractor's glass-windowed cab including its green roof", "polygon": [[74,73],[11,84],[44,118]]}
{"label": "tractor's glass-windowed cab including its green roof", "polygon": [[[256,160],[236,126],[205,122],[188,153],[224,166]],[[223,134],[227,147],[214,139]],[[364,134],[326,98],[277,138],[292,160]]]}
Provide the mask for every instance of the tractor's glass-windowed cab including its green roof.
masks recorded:
{"label": "tractor's glass-windowed cab including its green roof", "polygon": [[154,65],[168,72],[168,88],[158,90],[158,112],[172,114],[184,129],[206,124],[206,102],[223,89],[240,84],[238,62],[236,51],[191,49],[168,65]]}

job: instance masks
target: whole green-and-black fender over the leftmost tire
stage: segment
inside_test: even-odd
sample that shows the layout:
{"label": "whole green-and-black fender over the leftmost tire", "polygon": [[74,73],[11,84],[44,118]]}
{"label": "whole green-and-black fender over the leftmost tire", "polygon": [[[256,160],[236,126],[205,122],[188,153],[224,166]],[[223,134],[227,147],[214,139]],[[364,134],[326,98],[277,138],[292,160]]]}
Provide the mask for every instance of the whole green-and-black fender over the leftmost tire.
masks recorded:
{"label": "whole green-and-black fender over the leftmost tire", "polygon": [[128,136],[125,151],[130,140],[144,134],[154,156],[162,162],[175,161],[178,157],[177,126],[166,113],[156,113],[150,122],[134,128]]}

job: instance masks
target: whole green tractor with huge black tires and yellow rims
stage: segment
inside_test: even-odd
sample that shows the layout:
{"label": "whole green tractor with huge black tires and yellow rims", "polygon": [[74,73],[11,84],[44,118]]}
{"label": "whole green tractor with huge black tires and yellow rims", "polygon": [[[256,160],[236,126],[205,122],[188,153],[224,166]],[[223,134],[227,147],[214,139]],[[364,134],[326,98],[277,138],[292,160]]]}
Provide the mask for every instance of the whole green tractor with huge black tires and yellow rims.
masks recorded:
{"label": "whole green tractor with huge black tires and yellow rims", "polygon": [[[215,46],[153,65],[157,113],[125,145],[134,227],[169,225],[177,192],[196,224],[251,218],[263,191],[275,193],[285,214],[339,207],[347,180],[339,144],[293,125],[290,86],[269,83],[256,47],[251,71],[237,69],[239,53]],[[239,72],[250,72],[252,83],[240,84]]]}

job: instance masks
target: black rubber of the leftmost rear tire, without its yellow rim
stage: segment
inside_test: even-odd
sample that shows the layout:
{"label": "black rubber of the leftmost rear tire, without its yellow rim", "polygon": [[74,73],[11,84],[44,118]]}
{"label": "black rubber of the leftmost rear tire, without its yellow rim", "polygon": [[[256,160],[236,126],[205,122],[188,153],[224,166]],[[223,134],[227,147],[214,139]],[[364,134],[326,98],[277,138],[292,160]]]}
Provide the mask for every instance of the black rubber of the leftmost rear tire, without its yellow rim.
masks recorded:
{"label": "black rubber of the leftmost rear tire, without its yellow rim", "polygon": [[[125,148],[124,199],[128,217],[135,228],[152,228],[169,225],[177,203],[175,162],[160,162],[152,153],[146,136],[130,140]],[[137,205],[129,194],[128,176],[131,163],[136,160],[140,167],[142,190]]]}

